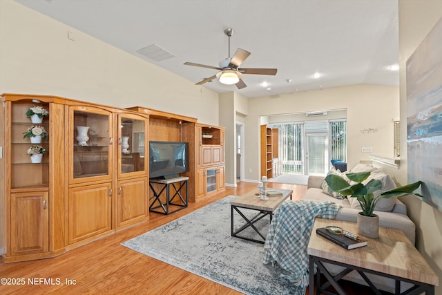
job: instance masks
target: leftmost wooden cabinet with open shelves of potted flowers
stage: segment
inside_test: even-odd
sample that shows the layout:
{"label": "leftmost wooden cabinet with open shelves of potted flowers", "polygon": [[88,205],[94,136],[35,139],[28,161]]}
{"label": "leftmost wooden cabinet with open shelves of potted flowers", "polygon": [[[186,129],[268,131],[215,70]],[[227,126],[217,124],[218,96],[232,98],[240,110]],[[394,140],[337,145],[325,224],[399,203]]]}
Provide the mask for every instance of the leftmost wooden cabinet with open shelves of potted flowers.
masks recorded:
{"label": "leftmost wooden cabinet with open shelves of potted flowers", "polygon": [[[47,258],[64,251],[64,99],[40,95],[1,96],[0,112],[0,249],[3,262]],[[48,111],[41,123],[27,117],[29,108]],[[23,138],[31,126],[41,126],[48,139]],[[31,162],[28,149],[42,146],[41,162]],[[60,197],[61,196],[61,197]]]}

